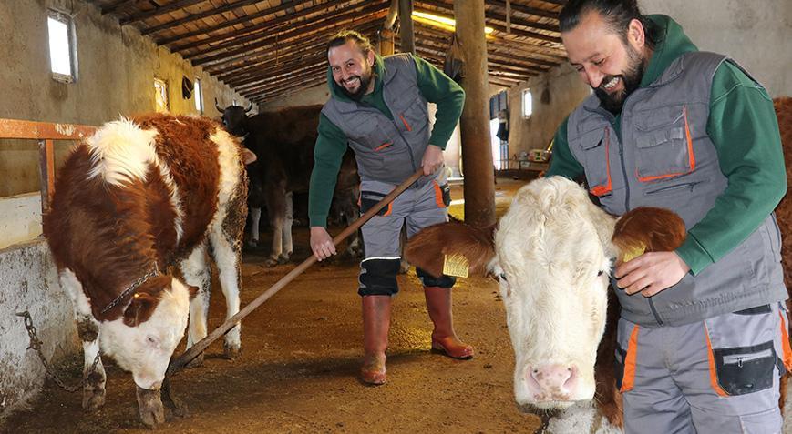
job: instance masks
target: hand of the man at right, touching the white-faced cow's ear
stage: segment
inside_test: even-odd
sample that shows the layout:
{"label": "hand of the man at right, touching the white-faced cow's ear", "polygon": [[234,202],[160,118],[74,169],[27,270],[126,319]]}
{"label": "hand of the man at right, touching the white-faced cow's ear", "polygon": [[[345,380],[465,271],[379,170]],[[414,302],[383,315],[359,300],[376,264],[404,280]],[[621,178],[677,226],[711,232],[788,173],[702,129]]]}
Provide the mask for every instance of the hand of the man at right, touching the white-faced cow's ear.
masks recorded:
{"label": "hand of the man at right, touching the white-faced cow's ear", "polygon": [[617,285],[627,294],[652,297],[679,283],[690,267],[674,252],[644,253],[616,267]]}

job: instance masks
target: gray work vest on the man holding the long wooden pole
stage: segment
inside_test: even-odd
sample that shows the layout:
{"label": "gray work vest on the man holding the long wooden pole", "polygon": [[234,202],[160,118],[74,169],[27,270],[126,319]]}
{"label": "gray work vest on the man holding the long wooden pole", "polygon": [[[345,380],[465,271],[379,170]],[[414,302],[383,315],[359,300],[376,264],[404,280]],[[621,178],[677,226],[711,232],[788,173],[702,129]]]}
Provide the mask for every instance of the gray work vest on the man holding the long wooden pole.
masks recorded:
{"label": "gray work vest on the man holding the long wooden pole", "polygon": [[[421,166],[429,143],[427,98],[418,90],[416,65],[406,54],[387,56],[383,99],[393,120],[374,106],[331,97],[322,113],[344,132],[362,180],[401,184]],[[437,174],[436,174],[437,175]],[[421,177],[423,186],[435,176]]]}

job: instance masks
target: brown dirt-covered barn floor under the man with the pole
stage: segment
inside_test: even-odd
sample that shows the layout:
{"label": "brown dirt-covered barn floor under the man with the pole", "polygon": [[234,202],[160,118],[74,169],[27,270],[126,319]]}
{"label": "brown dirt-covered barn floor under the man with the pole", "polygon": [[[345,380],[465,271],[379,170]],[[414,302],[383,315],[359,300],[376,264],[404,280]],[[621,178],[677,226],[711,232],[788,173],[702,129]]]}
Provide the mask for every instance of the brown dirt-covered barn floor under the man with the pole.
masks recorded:
{"label": "brown dirt-covered barn floor under the man with the pole", "polygon": [[[499,211],[523,182],[499,180]],[[453,197],[461,197],[460,186]],[[302,260],[309,252],[307,229],[298,227],[295,237],[295,257]],[[244,257],[242,305],[295,266],[264,267],[258,253]],[[489,278],[458,282],[456,328],[477,351],[460,361],[429,351],[431,323],[415,272],[398,279],[402,289],[394,304],[385,386],[366,387],[356,379],[362,355],[357,262],[338,259],[312,267],[243,320],[241,358],[222,358],[217,341],[202,367],[176,374],[173,389],[190,414],[169,413],[159,430],[534,432],[540,419],[520,413],[513,401],[514,359],[497,284]],[[219,288],[214,295],[210,328],[224,315]],[[75,359],[64,375],[74,382],[80,365],[81,358]],[[79,393],[47,382],[31,409],[5,420],[0,432],[150,432],[139,421],[131,376],[109,363],[107,390],[105,406],[87,414]]]}

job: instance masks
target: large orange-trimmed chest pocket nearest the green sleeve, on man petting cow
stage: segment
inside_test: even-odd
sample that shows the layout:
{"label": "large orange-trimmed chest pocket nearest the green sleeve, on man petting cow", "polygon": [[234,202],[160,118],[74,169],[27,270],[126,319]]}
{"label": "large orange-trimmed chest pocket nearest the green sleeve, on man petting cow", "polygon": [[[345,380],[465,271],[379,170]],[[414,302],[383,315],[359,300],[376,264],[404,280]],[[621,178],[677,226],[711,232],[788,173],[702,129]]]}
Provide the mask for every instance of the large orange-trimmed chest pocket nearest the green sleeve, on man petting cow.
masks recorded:
{"label": "large orange-trimmed chest pocket nearest the green sleeve, on man petting cow", "polygon": [[645,116],[635,123],[638,179],[653,182],[692,172],[695,155],[687,107],[663,107]]}

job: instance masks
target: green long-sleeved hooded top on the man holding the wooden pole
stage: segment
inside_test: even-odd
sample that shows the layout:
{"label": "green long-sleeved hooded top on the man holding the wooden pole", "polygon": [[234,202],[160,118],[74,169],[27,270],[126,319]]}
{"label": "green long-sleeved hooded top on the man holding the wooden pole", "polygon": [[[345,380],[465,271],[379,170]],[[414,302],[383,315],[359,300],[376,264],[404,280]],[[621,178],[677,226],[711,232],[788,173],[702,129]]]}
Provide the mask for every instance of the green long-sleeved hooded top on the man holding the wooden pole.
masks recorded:
{"label": "green long-sleeved hooded top on the man holding the wooden pole", "polygon": [[[417,56],[415,60],[417,73],[417,86],[421,95],[427,101],[437,104],[437,115],[432,133],[429,136],[429,145],[445,149],[448,139],[457,126],[462,106],[465,104],[465,92],[454,80],[443,74],[435,66]],[[386,106],[383,97],[382,80],[385,64],[382,57],[375,59],[375,88],[371,94],[363,96],[361,103],[374,106],[389,119],[393,114]],[[327,72],[327,82],[330,86],[332,97],[349,101],[333,79],[333,73]],[[338,170],[347,147],[347,138],[338,126],[335,126],[326,116],[319,118],[319,136],[314,148],[314,171],[311,173],[311,184],[308,192],[308,217],[312,227],[325,227],[330,203],[333,200]]]}

